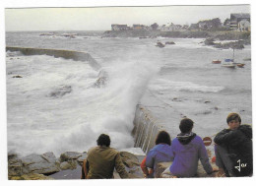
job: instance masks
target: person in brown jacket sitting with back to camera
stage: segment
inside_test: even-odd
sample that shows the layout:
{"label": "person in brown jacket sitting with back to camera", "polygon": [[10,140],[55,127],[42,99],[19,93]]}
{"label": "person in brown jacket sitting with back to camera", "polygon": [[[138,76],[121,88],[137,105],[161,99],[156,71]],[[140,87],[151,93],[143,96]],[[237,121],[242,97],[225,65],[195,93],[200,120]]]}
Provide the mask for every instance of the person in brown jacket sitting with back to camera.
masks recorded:
{"label": "person in brown jacket sitting with back to camera", "polygon": [[82,169],[82,179],[110,179],[113,178],[114,168],[121,178],[128,178],[122,158],[115,149],[110,148],[110,138],[101,134],[96,140],[97,147],[88,152]]}

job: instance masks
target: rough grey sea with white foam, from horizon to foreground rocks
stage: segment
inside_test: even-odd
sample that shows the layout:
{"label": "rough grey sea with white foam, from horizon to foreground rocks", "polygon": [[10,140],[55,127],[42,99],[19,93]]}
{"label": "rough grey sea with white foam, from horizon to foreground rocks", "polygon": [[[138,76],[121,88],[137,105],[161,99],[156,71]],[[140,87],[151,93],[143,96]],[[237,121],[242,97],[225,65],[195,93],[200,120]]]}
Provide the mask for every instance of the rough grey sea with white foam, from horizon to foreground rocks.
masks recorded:
{"label": "rough grey sea with white foam, from horizon to foreground rocks", "polygon": [[[65,34],[71,32],[74,36]],[[193,130],[202,137],[227,127],[229,112],[252,124],[250,45],[233,53],[204,45],[204,38],[102,37],[102,33],[6,32],[7,46],[84,51],[101,66],[96,71],[88,62],[7,51],[9,153],[82,153],[105,133],[111,147],[143,154],[133,148],[131,132],[136,105],[146,92],[193,119]],[[175,44],[160,48],[158,41]],[[212,63],[233,54],[235,62],[245,64],[243,68]],[[100,71],[106,72],[107,80],[96,87]],[[175,137],[178,124],[167,125],[177,126],[169,131]]]}

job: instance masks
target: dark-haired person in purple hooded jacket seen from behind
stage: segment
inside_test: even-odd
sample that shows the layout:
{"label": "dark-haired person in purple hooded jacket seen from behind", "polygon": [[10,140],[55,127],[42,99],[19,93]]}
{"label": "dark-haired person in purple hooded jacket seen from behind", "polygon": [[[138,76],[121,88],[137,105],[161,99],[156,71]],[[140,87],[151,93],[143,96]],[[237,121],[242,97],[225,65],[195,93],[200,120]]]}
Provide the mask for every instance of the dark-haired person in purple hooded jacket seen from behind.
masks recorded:
{"label": "dark-haired person in purple hooded jacket seen from behind", "polygon": [[162,172],[163,178],[196,176],[199,159],[208,174],[215,171],[209,162],[203,140],[192,132],[193,126],[194,122],[189,118],[180,121],[181,133],[171,142],[173,162]]}

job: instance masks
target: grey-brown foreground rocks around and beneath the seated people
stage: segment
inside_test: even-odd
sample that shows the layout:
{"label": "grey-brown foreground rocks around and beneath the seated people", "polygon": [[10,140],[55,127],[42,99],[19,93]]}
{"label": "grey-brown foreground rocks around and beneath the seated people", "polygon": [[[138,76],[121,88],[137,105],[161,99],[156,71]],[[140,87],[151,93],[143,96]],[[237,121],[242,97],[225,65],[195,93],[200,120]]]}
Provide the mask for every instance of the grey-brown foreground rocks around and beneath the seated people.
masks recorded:
{"label": "grey-brown foreground rocks around and beneath the seated people", "polygon": [[[140,163],[145,155],[133,155],[128,152],[120,152],[123,163],[129,172],[130,178],[144,178]],[[82,164],[87,158],[87,153],[65,152],[59,157],[53,153],[43,155],[19,156],[16,154],[8,155],[8,179],[9,180],[62,180],[62,179],[81,179]],[[170,162],[158,164],[156,173],[160,177],[161,172],[168,167]],[[212,162],[213,167],[216,166]],[[201,163],[198,166],[198,177],[214,177],[208,175]],[[117,172],[114,178],[119,179]]]}

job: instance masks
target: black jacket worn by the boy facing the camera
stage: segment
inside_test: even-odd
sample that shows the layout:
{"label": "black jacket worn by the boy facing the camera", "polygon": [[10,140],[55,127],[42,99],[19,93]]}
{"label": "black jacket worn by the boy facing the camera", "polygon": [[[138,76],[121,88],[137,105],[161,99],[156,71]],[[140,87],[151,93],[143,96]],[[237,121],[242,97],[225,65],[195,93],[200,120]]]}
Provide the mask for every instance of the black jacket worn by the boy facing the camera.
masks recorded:
{"label": "black jacket worn by the boy facing the camera", "polygon": [[214,139],[217,145],[224,147],[234,165],[246,163],[246,166],[237,171],[236,176],[247,176],[252,173],[252,128],[250,125],[240,125],[236,130],[224,129]]}

